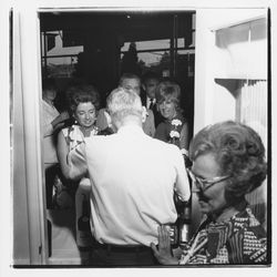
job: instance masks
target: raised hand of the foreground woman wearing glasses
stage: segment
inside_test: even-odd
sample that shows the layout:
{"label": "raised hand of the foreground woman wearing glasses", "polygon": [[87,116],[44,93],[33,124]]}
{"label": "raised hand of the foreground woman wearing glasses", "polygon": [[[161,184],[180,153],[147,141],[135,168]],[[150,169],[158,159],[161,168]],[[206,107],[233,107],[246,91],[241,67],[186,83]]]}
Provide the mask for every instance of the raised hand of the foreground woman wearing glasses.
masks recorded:
{"label": "raised hand of the foreground woman wearing glasses", "polygon": [[154,256],[162,265],[177,265],[178,259],[173,257],[171,248],[171,235],[165,225],[157,227],[158,247],[151,243]]}

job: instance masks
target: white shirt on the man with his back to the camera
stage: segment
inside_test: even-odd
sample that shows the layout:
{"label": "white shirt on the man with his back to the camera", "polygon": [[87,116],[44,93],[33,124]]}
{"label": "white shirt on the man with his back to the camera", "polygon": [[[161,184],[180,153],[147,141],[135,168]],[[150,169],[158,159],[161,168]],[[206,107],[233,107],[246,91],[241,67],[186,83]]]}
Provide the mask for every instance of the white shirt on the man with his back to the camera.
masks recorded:
{"label": "white shirt on the man with his back to the camera", "polygon": [[89,168],[95,238],[116,245],[157,243],[157,226],[175,223],[174,188],[191,196],[184,160],[175,145],[145,135],[138,126],[85,138],[69,154],[71,176]]}

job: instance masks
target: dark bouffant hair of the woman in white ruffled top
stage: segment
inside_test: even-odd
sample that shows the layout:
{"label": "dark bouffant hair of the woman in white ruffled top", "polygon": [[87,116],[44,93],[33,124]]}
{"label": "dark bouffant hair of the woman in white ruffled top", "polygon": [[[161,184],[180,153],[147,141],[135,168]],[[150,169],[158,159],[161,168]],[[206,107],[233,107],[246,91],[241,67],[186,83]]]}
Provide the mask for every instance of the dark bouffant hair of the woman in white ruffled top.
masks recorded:
{"label": "dark bouffant hair of the woman in white ruffled top", "polygon": [[96,111],[100,109],[99,92],[93,85],[80,84],[70,86],[66,90],[66,95],[69,99],[69,107],[72,114],[75,113],[80,103],[91,102]]}

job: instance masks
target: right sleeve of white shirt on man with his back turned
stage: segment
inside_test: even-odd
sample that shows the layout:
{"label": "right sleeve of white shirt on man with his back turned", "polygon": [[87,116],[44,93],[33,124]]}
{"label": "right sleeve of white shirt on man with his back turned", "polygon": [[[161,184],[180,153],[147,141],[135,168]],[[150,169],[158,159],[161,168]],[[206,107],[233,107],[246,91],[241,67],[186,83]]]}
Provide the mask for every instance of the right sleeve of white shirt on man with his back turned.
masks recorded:
{"label": "right sleeve of white shirt on man with his back turned", "polygon": [[176,170],[175,193],[181,201],[187,202],[191,197],[191,186],[186,174],[184,158],[177,146],[171,145],[174,148],[174,164]]}

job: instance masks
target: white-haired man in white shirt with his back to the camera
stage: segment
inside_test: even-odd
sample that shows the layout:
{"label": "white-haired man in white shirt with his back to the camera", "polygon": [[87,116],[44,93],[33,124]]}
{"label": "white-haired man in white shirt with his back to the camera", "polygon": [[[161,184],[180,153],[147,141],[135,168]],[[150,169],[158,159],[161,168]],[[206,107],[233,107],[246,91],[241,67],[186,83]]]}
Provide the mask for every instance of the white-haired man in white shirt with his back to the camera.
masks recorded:
{"label": "white-haired man in white shirt with his back to the camera", "polygon": [[174,191],[184,202],[191,196],[184,160],[175,145],[143,132],[137,93],[115,89],[107,111],[116,133],[85,138],[68,155],[68,177],[89,172],[91,179],[91,265],[155,265],[150,244],[157,226],[177,218]]}

